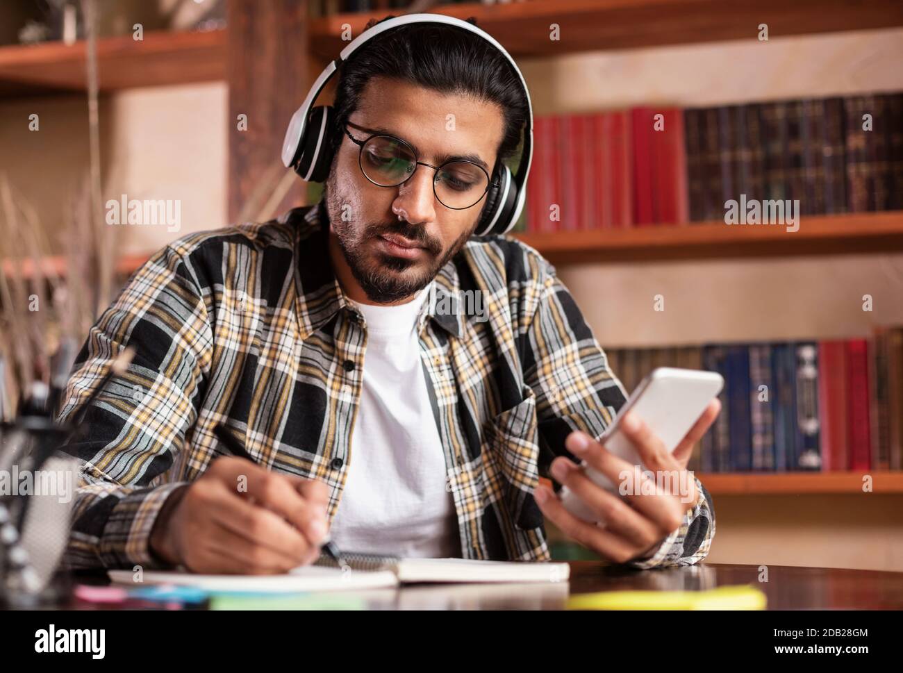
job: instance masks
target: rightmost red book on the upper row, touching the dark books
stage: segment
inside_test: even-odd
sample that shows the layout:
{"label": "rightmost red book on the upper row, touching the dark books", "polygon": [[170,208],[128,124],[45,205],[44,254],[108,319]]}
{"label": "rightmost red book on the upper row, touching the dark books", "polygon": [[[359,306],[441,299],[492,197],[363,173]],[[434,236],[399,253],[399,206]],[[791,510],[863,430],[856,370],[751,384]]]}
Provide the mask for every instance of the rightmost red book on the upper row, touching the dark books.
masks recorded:
{"label": "rightmost red book on the upper row, touching the dark books", "polygon": [[[669,107],[656,111],[652,138],[652,207],[656,224],[686,224],[690,206],[686,183],[684,111]],[[655,115],[653,116],[655,119]],[[660,129],[660,130],[656,130]]]}

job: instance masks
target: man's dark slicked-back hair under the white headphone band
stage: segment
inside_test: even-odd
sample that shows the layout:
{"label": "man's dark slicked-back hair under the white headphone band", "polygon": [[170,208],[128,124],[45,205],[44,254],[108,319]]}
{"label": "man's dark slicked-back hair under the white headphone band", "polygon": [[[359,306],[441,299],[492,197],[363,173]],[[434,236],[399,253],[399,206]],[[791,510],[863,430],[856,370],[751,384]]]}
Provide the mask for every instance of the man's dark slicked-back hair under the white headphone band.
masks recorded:
{"label": "man's dark slicked-back hair under the white headphone band", "polygon": [[[367,28],[394,16],[377,21]],[[476,25],[475,19],[468,23]],[[365,29],[366,30],[366,29]],[[380,33],[342,64],[336,87],[336,128],[333,148],[342,139],[342,127],[358,107],[368,81],[377,76],[403,79],[441,93],[470,94],[502,109],[505,127],[498,145],[498,162],[517,150],[526,123],[524,88],[511,64],[492,44],[450,25],[412,23]]]}

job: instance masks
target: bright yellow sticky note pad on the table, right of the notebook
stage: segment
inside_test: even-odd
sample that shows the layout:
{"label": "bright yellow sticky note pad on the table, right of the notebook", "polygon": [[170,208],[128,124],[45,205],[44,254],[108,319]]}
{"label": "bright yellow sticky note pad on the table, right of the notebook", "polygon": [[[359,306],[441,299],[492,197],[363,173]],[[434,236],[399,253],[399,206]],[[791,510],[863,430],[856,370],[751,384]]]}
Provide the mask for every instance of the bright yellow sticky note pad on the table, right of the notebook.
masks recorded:
{"label": "bright yellow sticky note pad on the table, right of the notebook", "polygon": [[707,591],[603,591],[577,594],[568,610],[764,610],[765,594],[751,584]]}

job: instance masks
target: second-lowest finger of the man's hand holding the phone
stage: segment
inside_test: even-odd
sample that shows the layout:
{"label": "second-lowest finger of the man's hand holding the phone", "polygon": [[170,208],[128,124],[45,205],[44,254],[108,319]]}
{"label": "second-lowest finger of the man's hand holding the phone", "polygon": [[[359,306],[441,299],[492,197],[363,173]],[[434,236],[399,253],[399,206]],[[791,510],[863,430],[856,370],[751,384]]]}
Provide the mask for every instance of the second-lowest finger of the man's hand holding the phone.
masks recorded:
{"label": "second-lowest finger of the man's hand holding the phone", "polygon": [[597,516],[605,521],[605,528],[618,533],[636,547],[646,549],[659,539],[661,532],[655,524],[617,495],[601,489],[567,458],[554,461],[553,475],[582,500]]}

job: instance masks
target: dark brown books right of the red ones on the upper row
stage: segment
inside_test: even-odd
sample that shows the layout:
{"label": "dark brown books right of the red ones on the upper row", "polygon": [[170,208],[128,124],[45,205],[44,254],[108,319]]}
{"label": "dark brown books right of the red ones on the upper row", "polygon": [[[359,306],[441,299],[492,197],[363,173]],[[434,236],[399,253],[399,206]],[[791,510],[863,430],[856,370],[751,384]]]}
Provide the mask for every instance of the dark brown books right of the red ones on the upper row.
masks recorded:
{"label": "dark brown books right of the red ones on the upper row", "polygon": [[684,111],[691,220],[740,194],[800,214],[903,208],[903,94]]}

